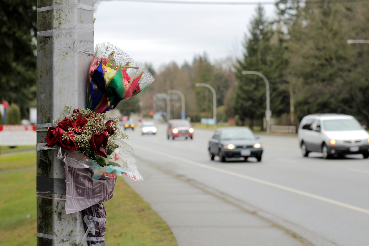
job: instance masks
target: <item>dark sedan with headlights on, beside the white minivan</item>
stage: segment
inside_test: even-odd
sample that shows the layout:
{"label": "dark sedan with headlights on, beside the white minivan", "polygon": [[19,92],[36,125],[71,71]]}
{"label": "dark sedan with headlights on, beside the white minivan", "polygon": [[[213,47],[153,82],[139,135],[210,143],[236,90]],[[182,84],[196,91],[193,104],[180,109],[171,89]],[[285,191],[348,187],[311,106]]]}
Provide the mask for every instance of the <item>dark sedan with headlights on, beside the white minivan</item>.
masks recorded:
{"label": "dark sedan with headlights on, beside the white minivan", "polygon": [[246,127],[223,127],[214,132],[209,140],[208,150],[210,159],[219,156],[221,162],[226,158],[256,157],[261,162],[263,145],[252,131]]}

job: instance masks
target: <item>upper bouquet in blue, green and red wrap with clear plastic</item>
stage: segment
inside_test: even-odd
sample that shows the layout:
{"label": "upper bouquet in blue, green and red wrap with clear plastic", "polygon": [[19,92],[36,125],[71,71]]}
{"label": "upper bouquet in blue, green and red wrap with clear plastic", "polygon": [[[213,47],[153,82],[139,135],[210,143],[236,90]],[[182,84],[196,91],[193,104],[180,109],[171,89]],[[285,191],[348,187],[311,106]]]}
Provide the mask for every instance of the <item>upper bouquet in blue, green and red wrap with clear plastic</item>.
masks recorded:
{"label": "upper bouquet in blue, green and red wrap with clear plastic", "polygon": [[112,110],[123,99],[131,98],[154,81],[142,63],[136,63],[110,43],[96,45],[87,84],[87,108],[93,112]]}

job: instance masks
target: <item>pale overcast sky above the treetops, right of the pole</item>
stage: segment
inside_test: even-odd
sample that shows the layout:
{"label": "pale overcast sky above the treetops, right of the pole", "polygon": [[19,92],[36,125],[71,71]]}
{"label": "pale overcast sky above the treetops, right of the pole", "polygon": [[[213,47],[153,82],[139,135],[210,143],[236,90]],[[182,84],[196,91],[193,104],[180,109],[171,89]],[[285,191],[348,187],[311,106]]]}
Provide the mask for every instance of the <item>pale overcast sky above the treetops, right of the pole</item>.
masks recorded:
{"label": "pale overcast sky above the treetops, right of the pole", "polygon": [[[194,55],[204,52],[213,62],[241,55],[241,42],[255,15],[255,8],[256,5],[104,0],[100,1],[94,13],[94,43],[111,42],[136,61],[152,63],[155,70],[171,61],[178,65],[185,60],[192,63]],[[264,5],[264,8],[266,16],[272,20],[275,6]]]}

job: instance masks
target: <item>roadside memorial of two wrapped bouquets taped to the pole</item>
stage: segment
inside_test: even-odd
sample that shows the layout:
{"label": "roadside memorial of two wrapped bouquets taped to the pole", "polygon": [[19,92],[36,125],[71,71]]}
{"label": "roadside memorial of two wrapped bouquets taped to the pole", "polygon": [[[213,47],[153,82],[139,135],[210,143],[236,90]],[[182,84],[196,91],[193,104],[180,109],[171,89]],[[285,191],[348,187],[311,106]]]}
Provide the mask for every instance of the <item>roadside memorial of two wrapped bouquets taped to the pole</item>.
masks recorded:
{"label": "roadside memorial of two wrapped bouquets taped to the pole", "polygon": [[70,113],[72,107],[65,106],[53,121],[56,126],[48,128],[46,143],[37,146],[38,150],[57,149],[56,158],[65,163],[65,212],[83,212],[86,233],[77,239],[81,244],[87,240],[89,246],[105,245],[103,202],[113,197],[118,176],[137,181],[151,178],[147,171],[138,172],[134,150],[123,141],[128,135],[121,131],[118,118],[105,112],[153,81],[142,63],[135,63],[118,47],[97,44],[88,75],[86,108]]}

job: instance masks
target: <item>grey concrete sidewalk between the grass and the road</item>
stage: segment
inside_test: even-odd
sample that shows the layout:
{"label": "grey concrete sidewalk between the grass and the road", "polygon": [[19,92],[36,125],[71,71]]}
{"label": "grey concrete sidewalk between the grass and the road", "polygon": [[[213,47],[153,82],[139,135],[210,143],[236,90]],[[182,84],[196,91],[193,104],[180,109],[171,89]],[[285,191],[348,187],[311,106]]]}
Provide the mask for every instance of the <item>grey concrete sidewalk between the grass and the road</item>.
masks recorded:
{"label": "grey concrete sidewalk between the grass and the road", "polygon": [[302,246],[285,231],[142,160],[149,181],[131,186],[169,225],[179,246]]}

